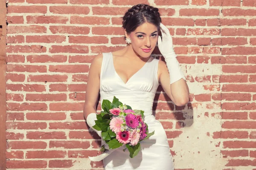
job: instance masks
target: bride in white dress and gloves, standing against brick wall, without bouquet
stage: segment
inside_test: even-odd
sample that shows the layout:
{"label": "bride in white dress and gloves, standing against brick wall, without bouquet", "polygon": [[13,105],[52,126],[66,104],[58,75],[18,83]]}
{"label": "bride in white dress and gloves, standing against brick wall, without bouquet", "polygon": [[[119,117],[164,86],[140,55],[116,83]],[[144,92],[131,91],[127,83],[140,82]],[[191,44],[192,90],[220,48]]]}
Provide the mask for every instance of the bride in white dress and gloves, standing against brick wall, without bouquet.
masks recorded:
{"label": "bride in white dress and gloves, standing against brick wall, without bouquet", "polygon": [[[155,131],[154,135],[141,142],[140,153],[133,159],[128,150],[114,150],[103,159],[105,170],[174,170],[165,130],[152,115],[159,84],[175,105],[182,106],[189,101],[189,89],[173,51],[172,37],[161,23],[158,8],[145,4],[128,9],[122,24],[128,45],[97,55],[90,66],[84,117],[92,128],[99,92],[101,102],[112,101],[116,96],[131,108],[145,111],[145,122],[149,132]],[[158,36],[160,31],[162,39]],[[150,56],[157,42],[166,63]],[[95,131],[101,136],[100,131]]]}

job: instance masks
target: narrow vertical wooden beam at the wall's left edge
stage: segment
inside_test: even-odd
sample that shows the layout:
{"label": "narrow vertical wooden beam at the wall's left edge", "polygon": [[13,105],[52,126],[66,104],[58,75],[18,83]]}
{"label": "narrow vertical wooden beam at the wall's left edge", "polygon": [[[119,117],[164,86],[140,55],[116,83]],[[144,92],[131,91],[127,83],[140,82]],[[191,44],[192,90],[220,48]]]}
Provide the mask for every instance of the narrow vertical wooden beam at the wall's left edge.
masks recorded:
{"label": "narrow vertical wooden beam at the wall's left edge", "polygon": [[6,170],[6,0],[0,0],[0,170]]}

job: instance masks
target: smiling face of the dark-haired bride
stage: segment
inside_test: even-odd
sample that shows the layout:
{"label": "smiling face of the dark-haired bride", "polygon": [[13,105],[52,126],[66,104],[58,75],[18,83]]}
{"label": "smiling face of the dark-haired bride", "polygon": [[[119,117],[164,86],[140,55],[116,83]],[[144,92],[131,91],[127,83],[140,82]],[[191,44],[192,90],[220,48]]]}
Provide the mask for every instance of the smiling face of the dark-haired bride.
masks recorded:
{"label": "smiling face of the dark-haired bride", "polygon": [[157,27],[151,23],[143,23],[128,35],[134,51],[143,58],[149,57],[153,52],[158,39]]}

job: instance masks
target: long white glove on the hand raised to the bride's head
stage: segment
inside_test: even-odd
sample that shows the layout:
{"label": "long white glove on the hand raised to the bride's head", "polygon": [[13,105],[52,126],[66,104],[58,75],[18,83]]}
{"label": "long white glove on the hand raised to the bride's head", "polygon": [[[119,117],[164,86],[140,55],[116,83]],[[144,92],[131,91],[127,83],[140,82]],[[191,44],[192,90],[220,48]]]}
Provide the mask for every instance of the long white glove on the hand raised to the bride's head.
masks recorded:
{"label": "long white glove on the hand raised to the bride's head", "polygon": [[162,39],[160,36],[158,36],[157,43],[158,48],[166,61],[166,65],[170,75],[170,84],[182,78],[186,81],[186,78],[183,75],[179,62],[176,58],[177,55],[173,50],[172,37],[168,28],[160,23],[160,31],[162,33]]}

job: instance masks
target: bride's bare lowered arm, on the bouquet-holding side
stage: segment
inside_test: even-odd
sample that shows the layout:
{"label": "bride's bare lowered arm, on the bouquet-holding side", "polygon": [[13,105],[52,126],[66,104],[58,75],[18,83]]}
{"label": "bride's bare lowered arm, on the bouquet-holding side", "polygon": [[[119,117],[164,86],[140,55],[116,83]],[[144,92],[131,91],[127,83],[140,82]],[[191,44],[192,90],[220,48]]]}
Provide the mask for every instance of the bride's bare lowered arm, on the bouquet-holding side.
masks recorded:
{"label": "bride's bare lowered arm, on the bouquet-holding side", "polygon": [[99,85],[100,85],[100,71],[102,65],[102,54],[98,54],[94,57],[89,70],[86,93],[85,93],[85,102],[84,102],[84,118],[87,119],[87,116],[90,113],[96,112],[96,104],[98,102],[99,96]]}

